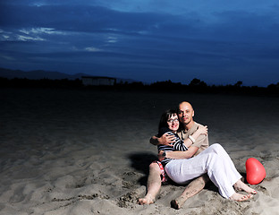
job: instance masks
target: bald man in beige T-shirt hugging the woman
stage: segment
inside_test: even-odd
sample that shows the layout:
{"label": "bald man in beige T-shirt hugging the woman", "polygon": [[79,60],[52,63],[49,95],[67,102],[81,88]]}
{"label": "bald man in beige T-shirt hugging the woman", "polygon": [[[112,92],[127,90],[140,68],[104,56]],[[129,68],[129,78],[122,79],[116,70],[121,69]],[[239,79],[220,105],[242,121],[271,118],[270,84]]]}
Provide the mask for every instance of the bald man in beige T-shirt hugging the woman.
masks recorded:
{"label": "bald man in beige T-shirt hugging the woman", "polygon": [[[178,106],[178,117],[182,125],[182,129],[177,133],[182,140],[190,139],[192,145],[189,150],[186,151],[160,151],[158,154],[158,158],[164,159],[190,159],[192,156],[198,155],[202,150],[207,149],[208,147],[208,137],[207,135],[199,135],[197,140],[194,140],[190,135],[194,133],[199,126],[193,120],[194,110],[189,102],[183,101]],[[173,141],[172,135],[164,134],[161,137],[153,136],[150,139],[150,143],[154,145],[158,144],[170,144]],[[149,165],[149,176],[148,176],[148,193],[142,199],[139,199],[139,204],[150,204],[154,203],[156,199],[157,193],[161,188],[161,175],[164,169],[160,167],[159,164],[153,162]],[[208,181],[208,176],[203,175],[194,179],[190,182],[190,184],[186,187],[185,191],[182,193],[180,197],[173,200],[171,202],[172,207],[175,209],[180,209],[182,204],[186,202],[191,196],[199,193]]]}

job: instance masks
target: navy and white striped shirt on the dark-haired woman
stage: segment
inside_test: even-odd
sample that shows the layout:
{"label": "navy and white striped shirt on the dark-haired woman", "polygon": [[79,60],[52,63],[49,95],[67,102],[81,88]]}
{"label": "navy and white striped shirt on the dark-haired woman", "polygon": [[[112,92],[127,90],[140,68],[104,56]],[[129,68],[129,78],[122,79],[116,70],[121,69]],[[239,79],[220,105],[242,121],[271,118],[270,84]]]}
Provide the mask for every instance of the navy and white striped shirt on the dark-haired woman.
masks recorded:
{"label": "navy and white striped shirt on the dark-haired woman", "polygon": [[[174,151],[174,150],[182,150],[182,151],[185,151],[185,150],[188,150],[188,148],[184,145],[184,142],[179,138],[179,136],[176,134],[176,133],[173,133],[170,131],[170,129],[168,128],[162,128],[160,129],[159,133],[158,133],[158,136],[161,137],[163,134],[170,134],[170,135],[173,135],[173,138],[174,138],[174,142],[171,143],[172,145],[169,146],[169,145],[158,145],[157,146],[157,149],[158,149],[158,152],[160,150],[165,150],[165,151]],[[161,161],[161,163],[163,164],[163,166],[165,167],[165,165],[170,162],[172,159],[163,159]]]}

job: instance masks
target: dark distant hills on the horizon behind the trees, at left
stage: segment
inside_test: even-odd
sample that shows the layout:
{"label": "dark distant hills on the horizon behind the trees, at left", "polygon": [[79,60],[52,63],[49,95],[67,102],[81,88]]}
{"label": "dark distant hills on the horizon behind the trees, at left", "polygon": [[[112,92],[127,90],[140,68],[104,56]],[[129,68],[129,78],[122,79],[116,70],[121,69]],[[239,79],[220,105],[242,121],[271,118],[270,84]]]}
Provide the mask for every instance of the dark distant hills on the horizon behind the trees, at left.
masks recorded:
{"label": "dark distant hills on the horizon behind the trees, at left", "polygon": [[[39,79],[69,79],[69,80],[75,80],[75,79],[81,79],[82,76],[92,76],[88,73],[76,73],[76,74],[67,74],[67,73],[59,73],[59,72],[47,72],[43,70],[35,70],[30,72],[24,72],[21,70],[11,70],[11,69],[5,69],[0,68],[0,77],[7,78],[7,79],[13,79],[13,78],[26,78],[30,80],[39,80]],[[131,79],[122,79],[122,78],[116,78],[116,82],[137,82]]]}

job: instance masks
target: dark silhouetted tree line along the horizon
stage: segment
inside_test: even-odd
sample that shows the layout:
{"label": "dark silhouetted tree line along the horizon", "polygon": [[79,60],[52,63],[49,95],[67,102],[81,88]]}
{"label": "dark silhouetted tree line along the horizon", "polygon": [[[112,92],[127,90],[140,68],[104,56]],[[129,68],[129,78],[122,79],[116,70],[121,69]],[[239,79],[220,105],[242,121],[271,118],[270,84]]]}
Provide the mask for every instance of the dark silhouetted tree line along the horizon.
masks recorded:
{"label": "dark silhouetted tree line along the horizon", "polygon": [[279,82],[269,84],[267,87],[243,86],[242,82],[227,85],[207,85],[199,79],[193,79],[189,84],[181,82],[153,82],[145,84],[143,82],[116,82],[113,86],[85,86],[80,79],[52,80],[40,79],[30,80],[26,78],[1,78],[0,88],[52,88],[52,89],[84,89],[84,90],[155,90],[155,91],[185,91],[203,93],[247,93],[247,94],[270,94],[279,95]]}

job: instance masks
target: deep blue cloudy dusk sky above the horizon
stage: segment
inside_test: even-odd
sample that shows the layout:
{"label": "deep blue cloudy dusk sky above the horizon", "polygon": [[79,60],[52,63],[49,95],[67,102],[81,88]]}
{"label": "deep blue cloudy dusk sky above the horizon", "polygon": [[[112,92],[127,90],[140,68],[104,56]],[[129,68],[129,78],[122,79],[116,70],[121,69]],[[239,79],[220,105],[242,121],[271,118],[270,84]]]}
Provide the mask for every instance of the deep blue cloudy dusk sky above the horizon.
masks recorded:
{"label": "deep blue cloudy dusk sky above the horizon", "polygon": [[0,67],[266,87],[277,0],[1,0]]}

